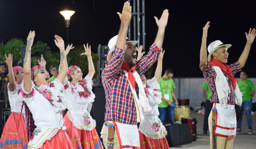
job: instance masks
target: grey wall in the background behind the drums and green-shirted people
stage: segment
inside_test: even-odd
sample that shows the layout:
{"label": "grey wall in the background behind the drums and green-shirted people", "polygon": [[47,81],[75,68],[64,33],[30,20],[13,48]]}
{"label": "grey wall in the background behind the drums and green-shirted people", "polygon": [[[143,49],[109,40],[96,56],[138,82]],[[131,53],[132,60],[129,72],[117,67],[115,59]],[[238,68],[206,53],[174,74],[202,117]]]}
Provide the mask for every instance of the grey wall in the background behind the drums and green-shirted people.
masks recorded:
{"label": "grey wall in the background behind the drums and green-shirted people", "polygon": [[[238,81],[240,78],[236,78]],[[205,82],[204,78],[173,78],[175,89],[174,94],[176,98],[188,98],[190,99],[190,106],[200,107],[201,102],[204,101],[202,94],[203,85]],[[256,87],[256,78],[248,78],[252,81]],[[256,96],[252,98],[256,102]]]}

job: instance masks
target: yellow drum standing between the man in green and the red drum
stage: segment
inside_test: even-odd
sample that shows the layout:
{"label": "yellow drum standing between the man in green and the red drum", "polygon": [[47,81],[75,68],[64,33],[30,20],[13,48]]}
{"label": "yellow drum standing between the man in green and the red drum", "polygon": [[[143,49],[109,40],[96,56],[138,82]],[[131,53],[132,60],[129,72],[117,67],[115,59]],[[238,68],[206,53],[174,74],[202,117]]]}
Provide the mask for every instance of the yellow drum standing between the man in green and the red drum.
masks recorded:
{"label": "yellow drum standing between the man in green and the red drum", "polygon": [[188,105],[176,105],[175,114],[174,114],[174,121],[181,121],[181,118],[189,117],[189,106]]}

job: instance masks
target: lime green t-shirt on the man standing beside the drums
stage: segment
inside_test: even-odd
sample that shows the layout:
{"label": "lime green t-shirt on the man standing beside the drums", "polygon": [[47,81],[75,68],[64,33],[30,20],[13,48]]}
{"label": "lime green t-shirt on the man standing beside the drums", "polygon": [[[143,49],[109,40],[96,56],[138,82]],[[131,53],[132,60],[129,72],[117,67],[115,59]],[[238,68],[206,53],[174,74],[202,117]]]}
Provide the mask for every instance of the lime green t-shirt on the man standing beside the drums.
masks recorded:
{"label": "lime green t-shirt on the man standing beside the drums", "polygon": [[[160,85],[160,92],[162,93],[162,96],[164,96],[164,94],[169,94],[169,99],[167,100],[171,100],[173,102],[173,97],[171,94],[171,90],[175,88],[173,79],[171,78],[169,80],[163,80],[161,77],[158,83]],[[168,104],[162,100],[162,102],[158,104],[158,107],[168,107]]]}

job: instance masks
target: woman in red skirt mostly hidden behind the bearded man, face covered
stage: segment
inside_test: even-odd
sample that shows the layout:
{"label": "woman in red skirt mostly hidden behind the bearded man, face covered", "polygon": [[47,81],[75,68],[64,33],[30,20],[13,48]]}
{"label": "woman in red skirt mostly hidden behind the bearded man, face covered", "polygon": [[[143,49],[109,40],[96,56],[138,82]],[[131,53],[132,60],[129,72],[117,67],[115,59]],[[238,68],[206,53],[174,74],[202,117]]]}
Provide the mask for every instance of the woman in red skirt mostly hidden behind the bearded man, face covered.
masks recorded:
{"label": "woman in red skirt mostly hidden behind the bearded man, face covered", "polygon": [[[139,54],[137,60],[141,58],[142,46],[137,49]],[[139,141],[141,149],[169,149],[168,142],[165,138],[167,131],[161,120],[158,118],[158,104],[161,103],[162,93],[158,81],[162,73],[163,48],[158,58],[158,65],[154,78],[147,80],[145,75],[141,75],[142,84],[144,85],[145,94],[152,110],[143,113],[144,120],[139,125]]]}

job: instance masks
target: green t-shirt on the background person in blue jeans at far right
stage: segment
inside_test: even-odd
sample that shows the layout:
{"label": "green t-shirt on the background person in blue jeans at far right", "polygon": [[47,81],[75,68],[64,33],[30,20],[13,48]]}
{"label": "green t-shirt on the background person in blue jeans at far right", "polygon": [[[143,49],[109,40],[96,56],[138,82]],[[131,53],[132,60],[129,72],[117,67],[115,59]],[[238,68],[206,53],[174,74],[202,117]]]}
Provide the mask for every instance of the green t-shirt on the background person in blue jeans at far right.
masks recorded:
{"label": "green t-shirt on the background person in blue jeans at far right", "polygon": [[255,90],[253,83],[250,80],[245,81],[238,81],[237,85],[239,87],[240,92],[243,92],[243,101],[247,101],[252,99],[252,96],[250,96],[250,91]]}

